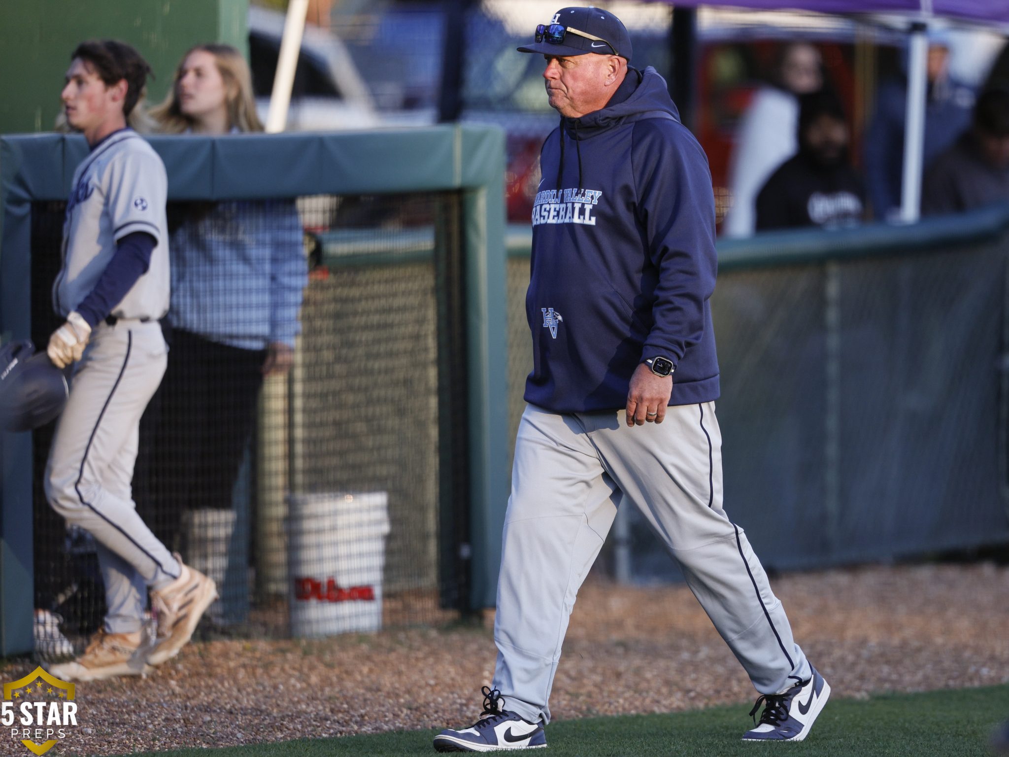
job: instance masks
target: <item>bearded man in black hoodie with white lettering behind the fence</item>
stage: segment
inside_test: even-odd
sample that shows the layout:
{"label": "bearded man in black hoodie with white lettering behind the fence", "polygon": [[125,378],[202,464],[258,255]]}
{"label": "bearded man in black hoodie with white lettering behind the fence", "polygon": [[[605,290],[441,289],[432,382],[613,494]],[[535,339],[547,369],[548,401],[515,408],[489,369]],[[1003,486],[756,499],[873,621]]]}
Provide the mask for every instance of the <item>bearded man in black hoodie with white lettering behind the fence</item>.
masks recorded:
{"label": "bearded man in black hoodie with white lettering behind the fence", "polygon": [[798,153],[757,196],[757,230],[858,224],[865,215],[865,185],[849,163],[848,123],[832,92],[799,98],[797,136]]}

